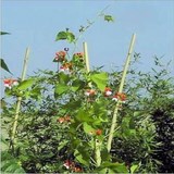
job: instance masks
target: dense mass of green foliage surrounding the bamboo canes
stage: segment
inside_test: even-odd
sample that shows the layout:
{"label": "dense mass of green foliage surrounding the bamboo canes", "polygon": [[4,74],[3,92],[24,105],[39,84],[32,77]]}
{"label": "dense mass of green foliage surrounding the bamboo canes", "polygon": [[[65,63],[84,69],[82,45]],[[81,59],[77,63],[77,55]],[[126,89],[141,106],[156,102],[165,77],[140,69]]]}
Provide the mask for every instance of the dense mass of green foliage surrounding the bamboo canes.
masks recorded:
{"label": "dense mass of green foliage surrounding the bamboo canes", "polygon": [[[154,61],[159,62],[157,58]],[[151,73],[129,71],[127,100],[120,109],[108,153],[105,142],[115,101],[103,92],[105,86],[117,90],[122,72],[96,69],[86,73],[84,62],[75,57],[70,63],[71,74],[42,71],[5,89],[12,98],[23,92],[16,142],[9,152],[25,172],[172,172],[173,79],[165,69]],[[90,97],[85,95],[89,83],[95,90]],[[9,132],[9,142],[14,112],[13,103],[2,112],[2,128]],[[95,163],[96,137],[102,141],[99,167]],[[69,164],[72,162],[69,169],[67,160]]]}

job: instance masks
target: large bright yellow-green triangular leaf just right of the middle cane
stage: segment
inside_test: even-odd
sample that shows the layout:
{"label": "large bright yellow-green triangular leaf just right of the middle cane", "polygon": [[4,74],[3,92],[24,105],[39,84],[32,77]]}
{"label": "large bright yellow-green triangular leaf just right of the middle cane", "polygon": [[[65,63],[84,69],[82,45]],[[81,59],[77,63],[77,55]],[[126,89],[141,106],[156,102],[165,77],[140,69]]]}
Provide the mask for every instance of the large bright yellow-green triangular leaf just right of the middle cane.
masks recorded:
{"label": "large bright yellow-green triangular leaf just right of the middle cane", "polygon": [[98,73],[98,74],[91,74],[91,80],[97,85],[97,87],[103,91],[105,86],[107,86],[107,82],[108,82],[108,74],[107,73]]}

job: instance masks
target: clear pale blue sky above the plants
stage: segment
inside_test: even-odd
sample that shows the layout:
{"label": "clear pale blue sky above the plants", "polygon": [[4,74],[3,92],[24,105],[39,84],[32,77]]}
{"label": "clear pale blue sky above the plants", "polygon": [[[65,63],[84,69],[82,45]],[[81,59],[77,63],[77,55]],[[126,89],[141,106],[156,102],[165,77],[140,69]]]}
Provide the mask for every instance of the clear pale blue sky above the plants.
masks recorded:
{"label": "clear pale blue sky above the plants", "polygon": [[[3,0],[1,7],[2,36],[1,57],[14,77],[21,76],[26,47],[30,48],[27,74],[34,71],[57,70],[52,62],[54,52],[65,41],[54,41],[55,35],[66,27],[77,34],[80,25],[104,12],[114,23],[98,18],[83,35],[76,51],[83,51],[87,41],[90,66],[104,65],[109,71],[124,64],[133,33],[137,34],[135,52],[140,52],[142,70],[149,70],[153,55],[163,62],[174,61],[174,1],[173,0]],[[71,50],[72,51],[72,50]],[[3,76],[11,76],[4,73]]]}

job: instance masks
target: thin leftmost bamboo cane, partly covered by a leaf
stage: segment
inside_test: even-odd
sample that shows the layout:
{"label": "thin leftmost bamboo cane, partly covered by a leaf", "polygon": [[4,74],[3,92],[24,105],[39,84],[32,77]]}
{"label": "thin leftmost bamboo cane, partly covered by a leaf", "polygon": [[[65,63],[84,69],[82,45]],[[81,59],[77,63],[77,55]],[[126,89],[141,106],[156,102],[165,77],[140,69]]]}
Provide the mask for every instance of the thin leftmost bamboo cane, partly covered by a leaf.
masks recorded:
{"label": "thin leftmost bamboo cane, partly covered by a leaf", "polygon": [[[22,82],[25,79],[28,58],[29,58],[29,48],[26,48],[25,58],[24,58],[24,64],[23,64],[23,71],[22,71],[22,77],[21,77]],[[14,138],[15,138],[21,102],[22,102],[22,97],[18,97],[17,98],[17,103],[16,103],[14,123],[13,123],[13,127],[12,127],[12,136],[11,136],[12,142],[14,141]]]}

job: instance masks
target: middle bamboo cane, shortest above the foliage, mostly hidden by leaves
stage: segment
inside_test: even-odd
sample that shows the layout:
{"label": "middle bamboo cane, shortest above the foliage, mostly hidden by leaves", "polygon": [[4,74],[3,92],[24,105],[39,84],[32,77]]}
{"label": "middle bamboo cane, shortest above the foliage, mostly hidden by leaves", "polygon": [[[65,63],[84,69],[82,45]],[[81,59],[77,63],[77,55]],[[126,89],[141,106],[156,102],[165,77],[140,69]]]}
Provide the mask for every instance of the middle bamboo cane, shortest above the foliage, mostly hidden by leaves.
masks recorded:
{"label": "middle bamboo cane, shortest above the foliage, mostly hidden by leaves", "polygon": [[[90,67],[89,67],[89,57],[88,57],[88,47],[87,42],[84,42],[84,55],[85,55],[85,62],[86,62],[86,70],[89,73]],[[91,84],[88,84],[89,87],[91,87]],[[95,139],[95,158],[96,158],[96,164],[97,166],[100,166],[101,164],[101,142],[98,139]]]}

